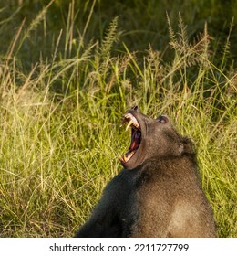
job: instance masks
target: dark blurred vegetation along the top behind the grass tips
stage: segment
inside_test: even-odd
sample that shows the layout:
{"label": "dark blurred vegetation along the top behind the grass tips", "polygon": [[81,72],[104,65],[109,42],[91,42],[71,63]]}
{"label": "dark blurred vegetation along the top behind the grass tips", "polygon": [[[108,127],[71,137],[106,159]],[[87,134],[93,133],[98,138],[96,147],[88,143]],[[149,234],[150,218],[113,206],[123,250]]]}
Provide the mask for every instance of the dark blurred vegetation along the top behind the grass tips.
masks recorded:
{"label": "dark blurred vegetation along the top behind the grass tips", "polygon": [[[20,24],[25,21],[23,29],[30,26],[32,20],[50,1],[8,0],[0,3],[0,33],[4,35],[1,38],[0,52],[4,54]],[[162,51],[165,59],[169,59],[171,54],[170,51],[167,53],[165,50],[170,40],[167,16],[176,31],[179,27],[177,18],[180,13],[184,24],[187,25],[190,40],[197,37],[207,24],[209,34],[213,37],[211,40],[213,50],[220,52],[226,37],[230,34],[232,24],[229,54],[232,60],[237,57],[237,27],[235,26],[236,18],[234,19],[237,16],[237,2],[235,0],[117,0],[113,4],[103,0],[56,0],[46,12],[46,16],[44,14],[41,16],[42,21],[39,19],[36,24],[31,24],[33,27],[29,32],[30,35],[27,35],[22,45],[16,48],[17,56],[24,58],[22,64],[26,68],[35,63],[40,56],[43,58],[50,56],[61,29],[63,34],[69,33],[69,35],[62,37],[59,48],[65,49],[65,40],[69,40],[68,37],[73,37],[77,45],[80,37],[83,36],[84,44],[87,45],[91,39],[103,40],[108,25],[116,16],[119,17],[119,41],[125,42],[130,51],[144,53],[150,45]],[[89,27],[85,27],[86,24]],[[67,57],[75,56],[76,48],[76,46],[67,48],[65,52]],[[121,44],[118,44],[117,50],[119,48],[122,48]],[[215,57],[218,63],[220,61],[218,54]]]}

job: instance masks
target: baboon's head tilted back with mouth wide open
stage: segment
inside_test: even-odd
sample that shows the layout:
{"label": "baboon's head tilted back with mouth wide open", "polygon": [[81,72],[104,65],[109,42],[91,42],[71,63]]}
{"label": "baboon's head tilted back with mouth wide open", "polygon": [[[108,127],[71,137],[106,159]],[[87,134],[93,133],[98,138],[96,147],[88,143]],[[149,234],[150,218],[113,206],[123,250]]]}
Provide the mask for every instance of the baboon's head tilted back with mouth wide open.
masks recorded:
{"label": "baboon's head tilted back with mouth wide open", "polygon": [[125,113],[122,123],[128,123],[126,130],[131,129],[129,151],[119,157],[127,169],[149,160],[193,154],[190,140],[176,132],[167,116],[149,118],[136,106]]}

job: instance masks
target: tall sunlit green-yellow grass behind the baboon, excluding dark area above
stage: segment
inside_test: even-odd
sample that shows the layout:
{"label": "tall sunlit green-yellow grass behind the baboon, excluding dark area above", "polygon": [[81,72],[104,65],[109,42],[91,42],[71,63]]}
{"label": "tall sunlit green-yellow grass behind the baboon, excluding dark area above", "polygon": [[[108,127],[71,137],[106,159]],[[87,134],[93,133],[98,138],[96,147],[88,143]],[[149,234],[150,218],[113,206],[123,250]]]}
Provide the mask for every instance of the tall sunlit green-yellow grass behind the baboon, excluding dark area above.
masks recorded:
{"label": "tall sunlit green-yellow grass behind the baboon, excluding dark area above", "polygon": [[77,40],[71,9],[67,29],[50,42],[51,58],[42,54],[26,71],[21,48],[48,8],[26,29],[26,21],[19,24],[1,56],[0,236],[73,236],[120,171],[117,155],[129,135],[119,123],[139,104],[153,117],[167,113],[195,142],[219,236],[237,237],[237,77],[228,64],[230,38],[216,61],[207,27],[190,40],[181,16],[178,30],[168,18],[170,61],[152,47],[140,57],[119,41],[118,18],[97,42],[86,40],[88,16]]}

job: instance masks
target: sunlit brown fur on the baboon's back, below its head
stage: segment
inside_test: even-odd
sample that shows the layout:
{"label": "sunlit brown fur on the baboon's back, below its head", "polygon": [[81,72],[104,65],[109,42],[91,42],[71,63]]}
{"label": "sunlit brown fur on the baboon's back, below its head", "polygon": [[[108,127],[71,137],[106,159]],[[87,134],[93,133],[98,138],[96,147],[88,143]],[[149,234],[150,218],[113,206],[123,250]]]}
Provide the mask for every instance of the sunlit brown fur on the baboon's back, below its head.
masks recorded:
{"label": "sunlit brown fur on the baboon's back, below its head", "polygon": [[211,208],[190,162],[188,156],[160,161],[160,169],[166,171],[155,175],[156,165],[154,173],[149,173],[139,188],[142,208],[132,237],[216,236]]}

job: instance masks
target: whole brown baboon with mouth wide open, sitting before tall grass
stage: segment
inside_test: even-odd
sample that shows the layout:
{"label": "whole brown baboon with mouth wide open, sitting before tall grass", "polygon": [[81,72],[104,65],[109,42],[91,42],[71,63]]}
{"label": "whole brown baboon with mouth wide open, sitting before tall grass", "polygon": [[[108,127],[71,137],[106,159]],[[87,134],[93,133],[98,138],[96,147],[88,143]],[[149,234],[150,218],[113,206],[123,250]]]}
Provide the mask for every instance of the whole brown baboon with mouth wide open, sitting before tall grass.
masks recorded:
{"label": "whole brown baboon with mouth wide open, sitting before tall grass", "polygon": [[75,237],[216,237],[191,140],[167,116],[152,119],[137,106],[123,123],[131,128],[129,151],[119,157],[124,169]]}

